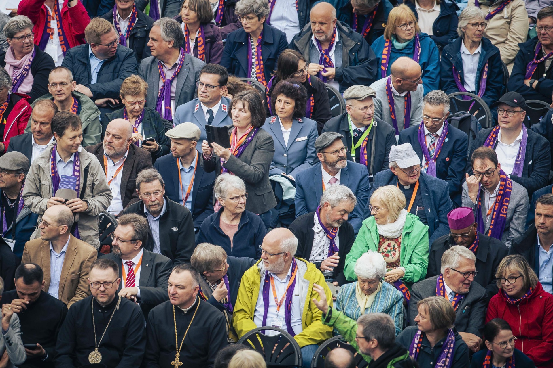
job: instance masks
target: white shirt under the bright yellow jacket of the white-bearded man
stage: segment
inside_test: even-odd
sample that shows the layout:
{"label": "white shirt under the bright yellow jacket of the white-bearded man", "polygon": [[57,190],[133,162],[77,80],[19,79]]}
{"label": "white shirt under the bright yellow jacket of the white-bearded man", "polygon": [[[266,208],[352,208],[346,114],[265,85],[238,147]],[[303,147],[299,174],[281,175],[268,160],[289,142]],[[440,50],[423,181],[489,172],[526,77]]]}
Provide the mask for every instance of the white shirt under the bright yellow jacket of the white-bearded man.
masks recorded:
{"label": "white shirt under the bright yellow jacket of the white-bearded man", "polygon": [[[283,297],[286,286],[288,286],[288,282],[290,281],[290,277],[292,275],[292,265],[290,265],[290,269],[288,270],[288,274],[286,274],[286,277],[284,280],[280,280],[278,276],[273,274],[272,272],[269,272],[270,276],[273,276],[274,278],[274,284],[275,284],[275,290],[276,290],[276,298],[280,301],[280,298]],[[265,282],[265,272],[263,271],[263,274],[261,275],[261,282],[259,285],[263,285],[263,282]],[[294,284],[294,292],[292,297],[292,305],[290,307],[290,312],[292,313],[290,316],[290,324],[292,325],[292,329],[294,330],[295,334],[299,334],[303,331],[303,328],[301,327],[301,308],[300,308],[300,300],[301,302],[305,301],[305,297],[302,297],[300,299],[299,296],[299,290],[298,290],[298,282],[301,282],[301,277],[299,273],[296,272],[296,282]],[[284,301],[282,305],[280,306],[279,311],[279,318],[282,319],[282,325],[281,329],[286,330],[286,319],[285,312],[286,312],[286,297],[284,297]],[[253,323],[257,327],[263,327],[263,313],[265,311],[265,305],[263,304],[263,287],[259,287],[259,294],[257,296],[257,303],[255,303],[255,312],[253,314]],[[276,319],[276,303],[275,298],[273,297],[273,289],[269,282],[269,309],[267,313],[267,326],[273,326],[273,321]],[[269,331],[267,331],[268,334],[270,334]],[[276,332],[275,332],[276,334]]]}

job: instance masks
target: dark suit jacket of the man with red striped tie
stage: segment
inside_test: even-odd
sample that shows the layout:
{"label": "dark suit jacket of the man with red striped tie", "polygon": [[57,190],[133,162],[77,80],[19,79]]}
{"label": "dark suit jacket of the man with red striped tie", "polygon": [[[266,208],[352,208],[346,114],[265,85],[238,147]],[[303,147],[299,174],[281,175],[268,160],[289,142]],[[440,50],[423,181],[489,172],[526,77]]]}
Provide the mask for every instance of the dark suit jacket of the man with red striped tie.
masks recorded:
{"label": "dark suit jacket of the man with red striped tie", "polygon": [[[100,258],[114,260],[119,266],[119,278],[123,280],[123,260],[121,258],[113,253],[104,254]],[[128,267],[124,267],[124,269],[127,270]],[[142,264],[140,265],[140,280],[137,285],[140,288],[138,302],[142,313],[144,313],[144,318],[148,318],[148,313],[153,307],[169,300],[167,281],[172,269],[173,262],[169,258],[144,249]],[[120,291],[124,286],[123,282],[120,282],[117,291]]]}

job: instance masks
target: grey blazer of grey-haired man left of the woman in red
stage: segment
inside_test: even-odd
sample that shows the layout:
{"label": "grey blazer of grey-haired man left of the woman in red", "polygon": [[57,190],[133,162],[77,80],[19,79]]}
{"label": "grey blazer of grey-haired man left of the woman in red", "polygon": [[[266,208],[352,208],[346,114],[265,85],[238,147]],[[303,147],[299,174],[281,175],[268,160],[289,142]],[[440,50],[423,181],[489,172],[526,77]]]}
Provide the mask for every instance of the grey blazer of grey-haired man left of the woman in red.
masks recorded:
{"label": "grey blazer of grey-haired man left of the woman in red", "polygon": [[[409,301],[409,325],[415,326],[415,317],[419,314],[416,303],[429,296],[436,296],[436,280],[438,276],[416,282],[411,286],[411,300]],[[458,332],[468,332],[477,336],[482,335],[484,319],[486,318],[487,292],[477,282],[472,282],[468,294],[457,305],[455,311],[455,328]]]}

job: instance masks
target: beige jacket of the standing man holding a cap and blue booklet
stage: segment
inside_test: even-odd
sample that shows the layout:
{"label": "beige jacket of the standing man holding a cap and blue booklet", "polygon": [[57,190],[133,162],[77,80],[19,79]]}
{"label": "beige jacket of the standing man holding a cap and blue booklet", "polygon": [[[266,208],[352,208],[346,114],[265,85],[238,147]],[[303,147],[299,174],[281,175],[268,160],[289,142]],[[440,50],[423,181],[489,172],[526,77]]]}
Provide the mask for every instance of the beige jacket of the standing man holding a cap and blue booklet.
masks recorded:
{"label": "beige jacket of the standing man holding a cap and blue booklet", "polygon": [[[25,205],[35,214],[39,215],[44,214],[46,202],[52,196],[50,157],[53,149],[54,146],[48,147],[33,161],[27,175],[27,180],[25,181],[25,189],[23,189]],[[107,185],[106,174],[96,156],[86,152],[81,147],[79,159],[81,162],[81,188],[84,180],[84,170],[88,166],[88,178],[83,198],[88,202],[88,209],[79,214],[79,235],[82,241],[98,249],[100,247],[98,215],[109,207],[113,196]],[[81,191],[79,191],[80,193]],[[32,238],[38,238],[39,234],[40,231],[37,227]]]}

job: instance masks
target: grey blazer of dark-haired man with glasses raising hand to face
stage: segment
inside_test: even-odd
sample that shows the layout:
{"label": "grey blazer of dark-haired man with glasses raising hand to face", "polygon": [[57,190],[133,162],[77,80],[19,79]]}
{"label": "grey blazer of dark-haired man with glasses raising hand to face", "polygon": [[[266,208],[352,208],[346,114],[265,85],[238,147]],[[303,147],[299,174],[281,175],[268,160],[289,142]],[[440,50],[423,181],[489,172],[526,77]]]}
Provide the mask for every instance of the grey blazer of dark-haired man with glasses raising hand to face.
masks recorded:
{"label": "grey blazer of dark-haired man with glasses raising hand to face", "polygon": [[[513,190],[511,193],[511,198],[509,200],[509,206],[507,207],[507,221],[505,221],[505,228],[503,231],[503,236],[501,241],[505,243],[507,247],[511,247],[511,242],[514,238],[521,236],[524,233],[526,225],[526,216],[528,216],[528,192],[524,186],[518,184],[514,180],[511,180],[513,183]],[[481,189],[482,198],[484,198],[484,188]],[[463,194],[462,194],[463,206],[471,207],[474,211],[474,216],[476,217],[476,208],[478,203],[472,202],[471,198],[468,196],[468,186],[467,182],[463,183]],[[482,218],[486,218],[486,206],[482,204]],[[489,216],[488,221],[486,222],[486,229],[483,233],[486,233],[489,229],[489,226],[492,222],[492,216]]]}

